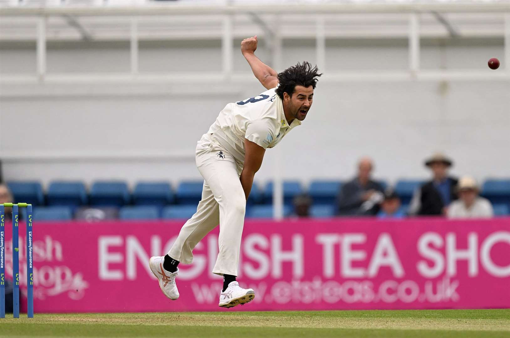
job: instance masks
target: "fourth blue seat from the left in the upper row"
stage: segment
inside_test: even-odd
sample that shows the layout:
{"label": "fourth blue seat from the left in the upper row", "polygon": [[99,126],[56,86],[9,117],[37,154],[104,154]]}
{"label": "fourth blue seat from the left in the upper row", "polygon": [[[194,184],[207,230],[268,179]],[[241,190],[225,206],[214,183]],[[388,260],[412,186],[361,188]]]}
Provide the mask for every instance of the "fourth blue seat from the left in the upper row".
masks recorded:
{"label": "fourth blue seat from the left in the upper row", "polygon": [[173,203],[173,193],[168,182],[139,182],[133,191],[137,205],[164,206]]}

